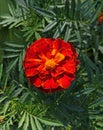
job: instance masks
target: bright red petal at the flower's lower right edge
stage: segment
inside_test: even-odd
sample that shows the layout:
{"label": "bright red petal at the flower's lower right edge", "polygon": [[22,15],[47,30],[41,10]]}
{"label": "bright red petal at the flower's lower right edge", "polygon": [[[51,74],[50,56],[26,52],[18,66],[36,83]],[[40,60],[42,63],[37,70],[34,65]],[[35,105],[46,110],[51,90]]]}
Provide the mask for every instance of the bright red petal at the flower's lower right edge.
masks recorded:
{"label": "bright red petal at the flower's lower right edge", "polygon": [[71,81],[74,79],[74,77],[69,77],[68,75],[64,74],[63,77],[57,80],[60,87],[62,88],[68,88],[71,85]]}

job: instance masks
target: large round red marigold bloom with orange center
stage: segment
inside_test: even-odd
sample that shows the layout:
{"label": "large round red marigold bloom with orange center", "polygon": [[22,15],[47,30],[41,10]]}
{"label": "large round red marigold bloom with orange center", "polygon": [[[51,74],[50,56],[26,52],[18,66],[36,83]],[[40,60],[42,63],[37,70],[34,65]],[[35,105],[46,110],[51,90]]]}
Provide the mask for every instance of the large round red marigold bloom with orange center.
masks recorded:
{"label": "large round red marigold bloom with orange center", "polygon": [[66,89],[75,78],[77,57],[70,42],[41,38],[26,50],[25,75],[33,86],[46,93]]}

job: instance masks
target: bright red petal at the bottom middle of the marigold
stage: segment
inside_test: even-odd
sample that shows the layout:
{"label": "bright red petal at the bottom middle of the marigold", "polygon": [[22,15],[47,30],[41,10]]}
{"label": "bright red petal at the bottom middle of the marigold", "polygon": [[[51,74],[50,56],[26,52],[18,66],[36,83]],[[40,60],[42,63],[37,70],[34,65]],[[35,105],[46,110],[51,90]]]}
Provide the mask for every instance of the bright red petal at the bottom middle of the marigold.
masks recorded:
{"label": "bright red petal at the bottom middle of the marigold", "polygon": [[56,89],[57,87],[58,83],[53,78],[47,79],[43,85],[44,89]]}

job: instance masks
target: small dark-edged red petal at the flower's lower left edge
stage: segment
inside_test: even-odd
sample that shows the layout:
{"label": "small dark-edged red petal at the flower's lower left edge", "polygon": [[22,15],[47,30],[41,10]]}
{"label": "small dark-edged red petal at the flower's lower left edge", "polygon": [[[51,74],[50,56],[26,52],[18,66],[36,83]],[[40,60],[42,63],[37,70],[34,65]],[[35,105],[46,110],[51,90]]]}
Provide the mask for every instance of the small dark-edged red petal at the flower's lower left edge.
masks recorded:
{"label": "small dark-edged red petal at the flower's lower left edge", "polygon": [[36,75],[34,77],[29,78],[32,85],[35,85],[36,87],[41,87],[42,80]]}

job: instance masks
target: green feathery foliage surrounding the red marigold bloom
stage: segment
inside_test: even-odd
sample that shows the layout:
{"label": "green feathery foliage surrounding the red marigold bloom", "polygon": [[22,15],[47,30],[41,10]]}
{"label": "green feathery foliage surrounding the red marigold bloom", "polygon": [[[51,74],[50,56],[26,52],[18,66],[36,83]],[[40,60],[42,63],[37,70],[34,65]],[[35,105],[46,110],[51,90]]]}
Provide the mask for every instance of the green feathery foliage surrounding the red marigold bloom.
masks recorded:
{"label": "green feathery foliage surrounding the red marigold bloom", "polygon": [[[103,130],[102,0],[0,0],[0,130]],[[22,62],[40,37],[62,38],[80,59],[67,90],[31,87]]]}

